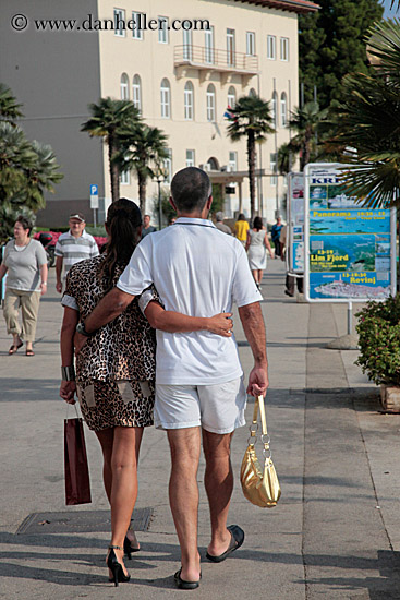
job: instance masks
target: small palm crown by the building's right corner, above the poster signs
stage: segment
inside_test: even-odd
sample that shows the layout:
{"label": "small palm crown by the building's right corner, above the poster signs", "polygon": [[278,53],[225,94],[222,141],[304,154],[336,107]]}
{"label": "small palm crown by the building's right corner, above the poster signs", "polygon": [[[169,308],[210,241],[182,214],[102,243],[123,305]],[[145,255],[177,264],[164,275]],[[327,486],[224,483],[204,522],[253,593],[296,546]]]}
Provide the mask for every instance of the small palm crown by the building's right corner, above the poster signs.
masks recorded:
{"label": "small palm crown by the building's right corner, above the poster signs", "polygon": [[289,142],[289,148],[293,154],[300,153],[301,171],[316,154],[318,128],[327,112],[327,109],[319,110],[318,103],[310,101],[302,108],[296,107],[291,113],[288,129],[294,131],[295,135]]}

